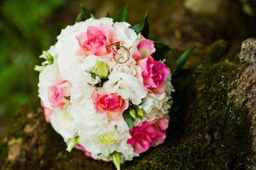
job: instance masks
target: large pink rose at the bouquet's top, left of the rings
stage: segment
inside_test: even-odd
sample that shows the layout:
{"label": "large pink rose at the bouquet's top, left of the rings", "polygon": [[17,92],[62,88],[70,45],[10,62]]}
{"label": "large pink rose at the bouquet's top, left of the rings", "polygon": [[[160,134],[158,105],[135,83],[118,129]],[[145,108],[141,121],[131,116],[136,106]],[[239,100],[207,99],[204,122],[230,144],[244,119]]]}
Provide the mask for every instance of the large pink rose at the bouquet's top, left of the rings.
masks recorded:
{"label": "large pink rose at the bouquet's top, left of the rings", "polygon": [[117,42],[113,27],[100,23],[97,26],[89,26],[87,32],[76,36],[81,49],[77,55],[96,55],[112,58],[112,52],[108,52],[108,45]]}

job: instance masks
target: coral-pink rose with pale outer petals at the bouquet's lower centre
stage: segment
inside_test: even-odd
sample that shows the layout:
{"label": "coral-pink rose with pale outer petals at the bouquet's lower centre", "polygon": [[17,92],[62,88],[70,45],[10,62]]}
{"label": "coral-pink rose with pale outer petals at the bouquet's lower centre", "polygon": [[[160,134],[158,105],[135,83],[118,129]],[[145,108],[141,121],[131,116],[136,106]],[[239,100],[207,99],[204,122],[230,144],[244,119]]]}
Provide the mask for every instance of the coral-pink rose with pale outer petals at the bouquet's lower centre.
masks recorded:
{"label": "coral-pink rose with pale outer petals at the bouquet's lower centre", "polygon": [[120,112],[128,108],[128,100],[123,99],[118,94],[106,94],[96,91],[91,94],[91,100],[95,103],[97,113],[106,113],[110,120],[118,120]]}

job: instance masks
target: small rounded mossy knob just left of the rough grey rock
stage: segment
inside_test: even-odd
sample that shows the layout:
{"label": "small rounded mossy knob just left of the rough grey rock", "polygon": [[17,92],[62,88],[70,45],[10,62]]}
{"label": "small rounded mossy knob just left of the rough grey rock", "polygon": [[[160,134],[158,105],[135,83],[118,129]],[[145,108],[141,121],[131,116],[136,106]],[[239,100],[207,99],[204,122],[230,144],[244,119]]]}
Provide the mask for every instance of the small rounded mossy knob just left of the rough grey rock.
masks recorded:
{"label": "small rounded mossy knob just left of the rough grey rock", "polygon": [[228,43],[225,40],[217,40],[211,45],[207,52],[207,60],[210,64],[218,62],[221,57],[226,55],[228,51]]}

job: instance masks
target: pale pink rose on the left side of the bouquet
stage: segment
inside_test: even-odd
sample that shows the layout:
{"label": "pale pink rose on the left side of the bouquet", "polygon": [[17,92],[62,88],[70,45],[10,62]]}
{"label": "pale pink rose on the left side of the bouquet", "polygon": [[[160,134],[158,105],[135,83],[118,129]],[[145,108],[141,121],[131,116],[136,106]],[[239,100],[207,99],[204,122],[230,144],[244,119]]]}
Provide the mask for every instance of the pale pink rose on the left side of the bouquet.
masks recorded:
{"label": "pale pink rose on the left side of the bouquet", "polygon": [[61,81],[59,84],[50,86],[48,98],[52,108],[59,108],[65,105],[65,97],[70,96],[70,88],[71,84],[66,80]]}

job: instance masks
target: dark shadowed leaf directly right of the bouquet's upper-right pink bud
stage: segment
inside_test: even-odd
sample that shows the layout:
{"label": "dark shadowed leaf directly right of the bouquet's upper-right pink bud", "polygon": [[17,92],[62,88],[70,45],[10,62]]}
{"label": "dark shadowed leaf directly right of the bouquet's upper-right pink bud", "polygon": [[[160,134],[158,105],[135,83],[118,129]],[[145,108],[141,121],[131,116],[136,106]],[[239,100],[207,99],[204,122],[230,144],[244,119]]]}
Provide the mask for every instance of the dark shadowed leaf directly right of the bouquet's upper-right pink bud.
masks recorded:
{"label": "dark shadowed leaf directly right of the bouquet's upper-right pink bud", "polygon": [[152,57],[154,57],[155,60],[164,60],[165,59],[165,54],[172,49],[165,44],[162,44],[160,42],[154,42],[155,45],[155,52],[152,54]]}

